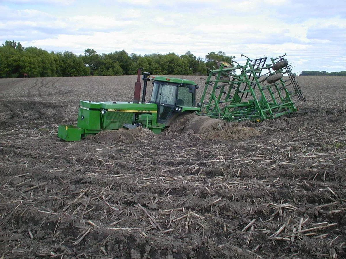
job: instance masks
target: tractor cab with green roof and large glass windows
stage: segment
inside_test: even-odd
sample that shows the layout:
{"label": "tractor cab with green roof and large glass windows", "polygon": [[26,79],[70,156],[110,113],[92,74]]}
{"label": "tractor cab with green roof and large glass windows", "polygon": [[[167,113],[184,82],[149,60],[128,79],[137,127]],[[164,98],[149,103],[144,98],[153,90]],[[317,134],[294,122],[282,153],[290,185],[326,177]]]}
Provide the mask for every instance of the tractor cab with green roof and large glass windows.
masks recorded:
{"label": "tractor cab with green roof and large glass windows", "polygon": [[153,76],[151,103],[157,105],[157,123],[169,124],[184,112],[200,111],[196,107],[197,84],[194,81]]}

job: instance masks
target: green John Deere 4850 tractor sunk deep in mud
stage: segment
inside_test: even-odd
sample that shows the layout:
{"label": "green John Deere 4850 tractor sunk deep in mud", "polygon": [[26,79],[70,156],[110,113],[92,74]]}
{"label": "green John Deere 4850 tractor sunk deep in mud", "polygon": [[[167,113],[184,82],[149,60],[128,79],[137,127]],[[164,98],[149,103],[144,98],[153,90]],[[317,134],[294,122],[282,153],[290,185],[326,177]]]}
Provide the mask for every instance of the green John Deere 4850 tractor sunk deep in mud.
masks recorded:
{"label": "green John Deere 4850 tractor sunk deep in mud", "polygon": [[[78,123],[59,125],[58,137],[65,141],[79,141],[89,134],[103,130],[145,127],[155,134],[161,133],[179,115],[200,112],[196,107],[194,81],[152,76],[143,73],[143,94],[140,99],[141,70],[138,69],[133,102],[91,102],[80,101]],[[149,103],[145,102],[147,82],[152,80],[153,92]]]}

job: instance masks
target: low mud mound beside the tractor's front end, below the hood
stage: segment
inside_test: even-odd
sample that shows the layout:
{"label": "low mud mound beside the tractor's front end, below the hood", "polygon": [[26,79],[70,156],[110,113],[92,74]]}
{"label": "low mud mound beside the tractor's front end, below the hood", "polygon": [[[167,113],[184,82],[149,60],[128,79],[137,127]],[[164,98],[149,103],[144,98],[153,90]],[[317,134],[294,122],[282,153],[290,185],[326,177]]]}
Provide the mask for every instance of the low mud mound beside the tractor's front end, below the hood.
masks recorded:
{"label": "low mud mound beside the tractor's front end, below the hood", "polygon": [[127,130],[121,128],[113,131],[101,131],[94,136],[89,136],[90,139],[98,143],[116,143],[122,142],[131,144],[135,142],[146,142],[154,137],[154,132],[148,128],[137,127]]}

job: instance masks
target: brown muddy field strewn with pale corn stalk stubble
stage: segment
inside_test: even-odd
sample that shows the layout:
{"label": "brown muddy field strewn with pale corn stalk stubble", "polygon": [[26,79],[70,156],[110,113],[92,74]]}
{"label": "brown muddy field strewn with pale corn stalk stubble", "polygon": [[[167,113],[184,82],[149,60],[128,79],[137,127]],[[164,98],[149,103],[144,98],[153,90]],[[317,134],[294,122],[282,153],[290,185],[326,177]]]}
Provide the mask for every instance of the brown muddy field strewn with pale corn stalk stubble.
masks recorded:
{"label": "brown muddy field strewn with pale corn stalk stubble", "polygon": [[273,121],[57,138],[135,81],[0,79],[0,258],[346,257],[345,77],[298,77]]}

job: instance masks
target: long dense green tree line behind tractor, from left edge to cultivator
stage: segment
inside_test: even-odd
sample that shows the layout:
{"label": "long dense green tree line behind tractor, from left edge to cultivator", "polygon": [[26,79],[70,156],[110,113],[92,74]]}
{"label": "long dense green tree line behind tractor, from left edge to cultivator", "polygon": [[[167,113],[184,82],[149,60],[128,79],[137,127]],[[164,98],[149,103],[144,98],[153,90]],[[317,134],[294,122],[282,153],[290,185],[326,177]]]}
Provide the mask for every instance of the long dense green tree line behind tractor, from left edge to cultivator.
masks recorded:
{"label": "long dense green tree line behind tractor, from left edge to cultivator", "polygon": [[190,51],[184,55],[127,54],[125,50],[97,54],[86,49],[84,55],[71,51],[48,52],[37,47],[23,47],[20,42],[7,40],[0,46],[0,78],[64,77],[64,76],[118,76],[136,75],[138,68],[153,75],[205,75],[216,61],[232,63],[234,56],[225,52],[210,52],[205,60]]}

